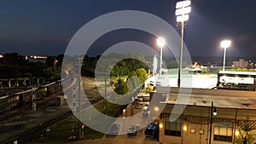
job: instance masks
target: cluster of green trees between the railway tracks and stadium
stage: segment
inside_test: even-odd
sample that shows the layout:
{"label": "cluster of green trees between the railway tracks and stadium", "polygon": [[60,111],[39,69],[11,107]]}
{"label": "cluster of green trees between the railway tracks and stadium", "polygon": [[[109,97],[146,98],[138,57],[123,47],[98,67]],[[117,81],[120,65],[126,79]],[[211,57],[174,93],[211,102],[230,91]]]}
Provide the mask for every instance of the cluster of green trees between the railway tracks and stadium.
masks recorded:
{"label": "cluster of green trees between the railway tracks and stadium", "polygon": [[125,95],[138,89],[148,78],[148,66],[144,55],[140,53],[84,56],[82,75],[96,75],[98,80],[110,76],[110,83],[119,95]]}

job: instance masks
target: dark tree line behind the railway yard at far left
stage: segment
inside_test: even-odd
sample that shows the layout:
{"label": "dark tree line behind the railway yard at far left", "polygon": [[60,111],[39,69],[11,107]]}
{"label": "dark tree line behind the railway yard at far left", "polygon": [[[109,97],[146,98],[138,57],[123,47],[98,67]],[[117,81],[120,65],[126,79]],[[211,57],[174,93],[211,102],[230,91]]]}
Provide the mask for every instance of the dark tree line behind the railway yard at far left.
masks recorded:
{"label": "dark tree line behind the railway yard at far left", "polygon": [[[26,56],[18,53],[2,55],[0,58],[0,78],[47,78],[49,81],[55,81],[61,78],[61,61],[63,55],[56,57],[49,56],[45,63],[30,62]],[[54,67],[54,61],[58,60]]]}

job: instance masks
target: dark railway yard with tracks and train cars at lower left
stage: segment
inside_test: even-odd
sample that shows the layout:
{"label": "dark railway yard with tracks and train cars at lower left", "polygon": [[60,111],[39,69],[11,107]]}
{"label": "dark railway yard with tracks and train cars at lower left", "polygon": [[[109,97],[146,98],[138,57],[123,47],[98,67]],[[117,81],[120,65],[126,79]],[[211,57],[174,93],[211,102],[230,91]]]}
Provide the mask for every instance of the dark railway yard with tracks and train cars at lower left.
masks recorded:
{"label": "dark railway yard with tracks and train cars at lower left", "polygon": [[[76,84],[75,81],[73,80],[71,85]],[[95,94],[95,87],[90,86],[93,85],[91,84],[92,82],[92,78],[83,78],[84,90]],[[32,141],[37,138],[40,131],[49,125],[72,115],[67,103],[62,106],[55,105],[55,97],[63,96],[61,83],[49,85],[38,90],[40,90],[40,93],[38,91],[35,92],[37,95],[37,108],[35,111],[32,110],[32,92],[29,90],[22,95],[18,93],[1,99],[2,106],[5,105],[5,107],[1,107],[0,111],[0,143],[13,144],[15,141],[18,141],[18,143]],[[91,96],[89,99],[93,103],[102,100],[101,97],[97,96]]]}

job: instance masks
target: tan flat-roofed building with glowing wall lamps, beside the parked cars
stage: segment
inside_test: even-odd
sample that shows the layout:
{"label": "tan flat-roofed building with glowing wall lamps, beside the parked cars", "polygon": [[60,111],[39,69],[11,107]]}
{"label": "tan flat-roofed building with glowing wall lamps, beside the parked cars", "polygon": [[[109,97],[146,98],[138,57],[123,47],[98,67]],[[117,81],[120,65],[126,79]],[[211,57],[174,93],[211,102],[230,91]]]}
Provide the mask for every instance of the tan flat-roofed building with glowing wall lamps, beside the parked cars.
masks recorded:
{"label": "tan flat-roofed building with glowing wall lamps, beside the parked cars", "polygon": [[[157,88],[150,94],[164,109],[156,119],[160,122],[160,143],[162,144],[208,144],[210,139],[211,103],[218,114],[212,117],[212,144],[229,144],[242,140],[246,133],[241,130],[249,126],[256,134],[256,92],[223,89],[185,89],[179,94],[177,88],[170,92]],[[167,90],[167,91],[169,91]],[[182,101],[180,101],[182,96]],[[184,97],[189,97],[185,101]],[[155,101],[154,101],[155,102]],[[151,103],[150,103],[151,104]],[[149,104],[150,111],[154,106]],[[183,111],[172,112],[173,107]],[[150,112],[153,113],[153,112]],[[177,116],[170,122],[170,116]],[[253,141],[253,143],[256,141]]]}

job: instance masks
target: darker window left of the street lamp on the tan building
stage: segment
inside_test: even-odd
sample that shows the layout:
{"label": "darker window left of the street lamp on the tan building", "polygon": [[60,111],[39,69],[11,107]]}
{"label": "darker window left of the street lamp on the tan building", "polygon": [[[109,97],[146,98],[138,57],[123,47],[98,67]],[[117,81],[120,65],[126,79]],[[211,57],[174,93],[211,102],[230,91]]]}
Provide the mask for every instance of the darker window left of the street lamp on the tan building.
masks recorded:
{"label": "darker window left of the street lamp on the tan building", "polygon": [[165,135],[181,136],[181,119],[178,118],[175,122],[170,122],[169,118],[165,120]]}

